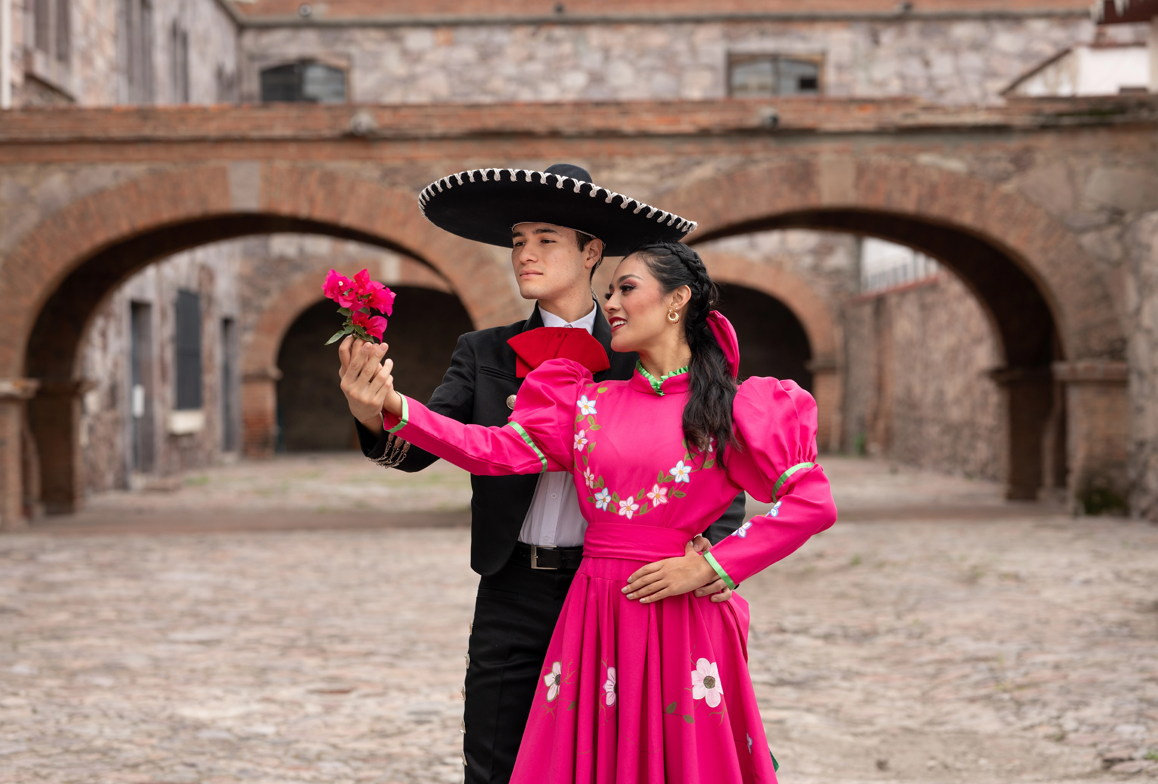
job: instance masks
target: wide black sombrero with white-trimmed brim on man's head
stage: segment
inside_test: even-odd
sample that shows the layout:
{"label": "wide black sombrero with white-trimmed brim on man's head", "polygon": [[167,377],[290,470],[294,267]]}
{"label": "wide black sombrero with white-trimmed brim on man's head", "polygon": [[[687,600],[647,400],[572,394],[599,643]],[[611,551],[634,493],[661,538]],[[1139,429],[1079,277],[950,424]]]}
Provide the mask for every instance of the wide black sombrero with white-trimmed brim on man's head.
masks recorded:
{"label": "wide black sombrero with white-trimmed brim on man's head", "polygon": [[586,169],[556,163],[547,171],[472,169],[431,183],[418,195],[426,219],[468,240],[512,247],[515,224],[554,224],[603,241],[623,256],[642,242],[679,242],[696,222],[600,188]]}

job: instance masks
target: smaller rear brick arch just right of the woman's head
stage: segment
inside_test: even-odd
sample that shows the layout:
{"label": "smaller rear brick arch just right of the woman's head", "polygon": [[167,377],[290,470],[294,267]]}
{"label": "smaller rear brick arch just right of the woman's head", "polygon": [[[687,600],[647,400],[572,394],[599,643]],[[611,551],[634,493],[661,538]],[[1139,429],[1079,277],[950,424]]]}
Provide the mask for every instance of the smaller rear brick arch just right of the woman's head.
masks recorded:
{"label": "smaller rear brick arch just right of the woman's head", "polygon": [[840,361],[841,334],[831,307],[799,276],[783,268],[711,250],[702,251],[701,257],[712,278],[779,300],[804,327],[812,349],[813,396],[820,411],[816,441],[822,449],[840,449],[844,368]]}

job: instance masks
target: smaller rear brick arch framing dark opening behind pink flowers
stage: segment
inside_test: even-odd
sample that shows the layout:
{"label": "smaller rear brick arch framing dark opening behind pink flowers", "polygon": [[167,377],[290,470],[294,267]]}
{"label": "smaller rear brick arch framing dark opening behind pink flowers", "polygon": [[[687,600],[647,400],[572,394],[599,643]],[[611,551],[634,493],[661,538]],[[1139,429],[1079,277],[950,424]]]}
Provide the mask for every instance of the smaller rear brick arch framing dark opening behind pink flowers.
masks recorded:
{"label": "smaller rear brick arch framing dark opening behind pink flowers", "polygon": [[[277,440],[277,382],[281,378],[278,352],[295,321],[322,299],[318,281],[331,268],[353,277],[360,263],[335,263],[320,258],[313,270],[303,271],[270,293],[252,332],[242,346],[241,432],[242,450],[248,457],[269,457]],[[390,285],[422,286],[456,294],[445,278],[410,258],[400,258],[391,274],[375,277]]]}

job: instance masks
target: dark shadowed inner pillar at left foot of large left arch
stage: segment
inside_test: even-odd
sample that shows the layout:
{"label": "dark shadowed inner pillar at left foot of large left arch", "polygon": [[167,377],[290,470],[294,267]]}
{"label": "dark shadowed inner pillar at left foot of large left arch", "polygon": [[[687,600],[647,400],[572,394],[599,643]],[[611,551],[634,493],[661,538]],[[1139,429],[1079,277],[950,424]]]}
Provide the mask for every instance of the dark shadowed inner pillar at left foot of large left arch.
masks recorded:
{"label": "dark shadowed inner pillar at left foot of large left arch", "polygon": [[80,455],[81,397],[90,382],[42,379],[28,401],[28,424],[41,463],[41,500],[49,514],[72,514],[85,497]]}

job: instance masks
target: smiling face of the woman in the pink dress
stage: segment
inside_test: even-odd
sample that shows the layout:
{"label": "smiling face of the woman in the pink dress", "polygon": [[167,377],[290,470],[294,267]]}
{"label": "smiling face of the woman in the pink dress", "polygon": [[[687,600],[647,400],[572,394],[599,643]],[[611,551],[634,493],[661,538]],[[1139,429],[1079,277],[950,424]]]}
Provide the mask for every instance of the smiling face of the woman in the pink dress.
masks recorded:
{"label": "smiling face of the woman in the pink dress", "polygon": [[611,351],[643,349],[646,353],[648,346],[681,332],[683,325],[669,322],[667,314],[673,303],[682,305],[683,288],[665,294],[638,255],[632,254],[620,262],[603,305],[607,323],[611,327]]}

